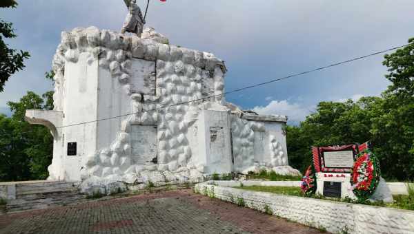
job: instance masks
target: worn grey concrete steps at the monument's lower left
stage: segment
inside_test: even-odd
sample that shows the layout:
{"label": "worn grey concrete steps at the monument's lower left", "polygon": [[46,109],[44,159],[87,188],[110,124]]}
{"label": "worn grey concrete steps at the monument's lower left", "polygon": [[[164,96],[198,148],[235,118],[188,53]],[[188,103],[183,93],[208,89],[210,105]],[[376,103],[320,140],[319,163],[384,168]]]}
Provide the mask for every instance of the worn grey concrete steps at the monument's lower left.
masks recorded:
{"label": "worn grey concrete steps at the monument's lower left", "polygon": [[79,193],[79,183],[33,182],[16,184],[16,199],[9,200],[6,211],[28,211],[46,209],[80,202],[85,195]]}

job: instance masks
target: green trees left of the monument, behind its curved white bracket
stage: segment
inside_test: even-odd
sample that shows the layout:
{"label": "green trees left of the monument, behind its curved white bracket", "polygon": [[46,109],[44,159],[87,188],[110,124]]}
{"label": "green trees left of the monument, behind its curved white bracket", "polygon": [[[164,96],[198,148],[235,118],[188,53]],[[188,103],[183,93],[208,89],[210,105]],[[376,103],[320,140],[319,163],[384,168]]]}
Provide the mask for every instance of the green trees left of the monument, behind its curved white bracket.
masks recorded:
{"label": "green trees left of the monument, behind its curved white bracket", "polygon": [[0,181],[44,180],[52,161],[50,131],[24,120],[26,109],[53,109],[53,92],[42,97],[28,92],[19,102],[8,102],[13,114],[0,115]]}

